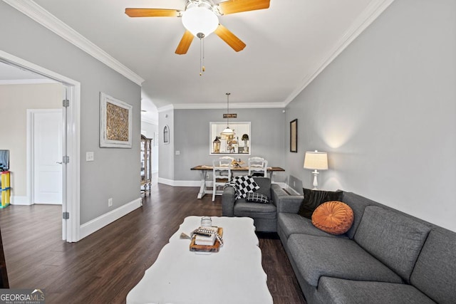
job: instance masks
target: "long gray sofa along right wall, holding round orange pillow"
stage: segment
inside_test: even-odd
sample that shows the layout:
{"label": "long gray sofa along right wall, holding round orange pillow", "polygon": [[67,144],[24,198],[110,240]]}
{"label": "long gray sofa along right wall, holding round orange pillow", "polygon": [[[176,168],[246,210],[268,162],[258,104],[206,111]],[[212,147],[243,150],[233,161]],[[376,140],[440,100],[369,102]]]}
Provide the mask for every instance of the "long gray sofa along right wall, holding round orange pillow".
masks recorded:
{"label": "long gray sofa along right wall, holding round orange pillow", "polygon": [[277,233],[307,303],[456,303],[455,232],[343,192],[353,226],[334,236],[276,195]]}

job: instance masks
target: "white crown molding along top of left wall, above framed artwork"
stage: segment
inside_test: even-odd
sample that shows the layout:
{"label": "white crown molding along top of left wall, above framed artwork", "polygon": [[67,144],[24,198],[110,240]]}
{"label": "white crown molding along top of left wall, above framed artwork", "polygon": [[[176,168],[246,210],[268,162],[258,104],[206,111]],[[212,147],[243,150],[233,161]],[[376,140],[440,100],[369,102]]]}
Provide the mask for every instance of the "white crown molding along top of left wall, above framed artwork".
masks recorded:
{"label": "white crown molding along top of left wall, above framed artwork", "polygon": [[73,30],[70,26],[63,23],[60,19],[57,19],[56,16],[49,13],[41,6],[36,4],[34,1],[31,0],[3,0],[6,4],[14,7],[22,14],[25,14],[29,18],[33,19],[34,21],[40,23],[42,26],[48,28],[49,30],[56,33],[58,36],[61,36],[66,41],[73,43],[73,45],[81,48],[81,50],[88,53],[93,58],[101,61],[108,67],[112,68],[116,72],[124,75],[126,78],[133,81],[137,85],[141,85],[144,82],[138,74],[130,70],[125,65],[120,63],[119,61],[115,60],[112,56],[108,53],[103,51],[101,48],[96,46],[94,43],[89,41],[86,37],[82,36],[77,31]]}

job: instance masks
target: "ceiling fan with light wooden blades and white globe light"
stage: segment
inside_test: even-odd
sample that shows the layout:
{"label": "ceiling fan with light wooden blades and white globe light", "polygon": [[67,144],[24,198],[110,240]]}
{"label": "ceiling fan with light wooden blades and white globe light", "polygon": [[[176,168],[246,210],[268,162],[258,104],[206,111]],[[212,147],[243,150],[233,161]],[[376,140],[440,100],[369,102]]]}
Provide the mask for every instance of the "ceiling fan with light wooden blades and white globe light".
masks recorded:
{"label": "ceiling fan with light wooden blades and white globe light", "polygon": [[176,9],[125,9],[130,17],[182,17],[185,33],[176,48],[175,53],[187,53],[193,37],[202,39],[210,33],[215,33],[234,51],[242,51],[246,44],[227,28],[219,23],[218,16],[268,9],[270,0],[227,0],[214,4],[212,0],[187,0],[184,10]]}

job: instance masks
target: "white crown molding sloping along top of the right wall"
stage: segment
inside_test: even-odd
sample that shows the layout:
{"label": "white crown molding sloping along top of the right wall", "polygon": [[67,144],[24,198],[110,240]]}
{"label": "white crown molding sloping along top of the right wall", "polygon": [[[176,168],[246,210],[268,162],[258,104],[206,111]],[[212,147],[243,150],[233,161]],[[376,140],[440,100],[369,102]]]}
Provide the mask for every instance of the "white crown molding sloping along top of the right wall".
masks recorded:
{"label": "white crown molding sloping along top of the right wall", "polygon": [[336,43],[331,51],[324,57],[323,61],[315,66],[314,73],[307,75],[301,82],[301,85],[294,90],[286,100],[284,100],[284,108],[291,103],[299,93],[302,92],[336,57],[352,43],[368,26],[377,19],[385,9],[393,3],[394,0],[378,0],[372,1],[371,4],[363,11],[363,13],[356,19],[350,28],[343,34],[341,39]]}

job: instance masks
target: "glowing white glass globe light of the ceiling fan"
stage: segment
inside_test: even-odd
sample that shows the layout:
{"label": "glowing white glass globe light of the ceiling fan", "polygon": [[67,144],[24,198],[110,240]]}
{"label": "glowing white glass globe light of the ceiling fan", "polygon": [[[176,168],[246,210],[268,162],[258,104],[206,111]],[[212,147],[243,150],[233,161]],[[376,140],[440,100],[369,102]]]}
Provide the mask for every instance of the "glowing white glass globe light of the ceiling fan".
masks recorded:
{"label": "glowing white glass globe light of the ceiling fan", "polygon": [[182,24],[193,36],[197,37],[198,33],[204,33],[204,37],[219,26],[219,19],[213,11],[204,7],[190,7],[182,13]]}

